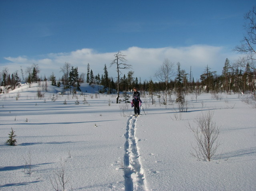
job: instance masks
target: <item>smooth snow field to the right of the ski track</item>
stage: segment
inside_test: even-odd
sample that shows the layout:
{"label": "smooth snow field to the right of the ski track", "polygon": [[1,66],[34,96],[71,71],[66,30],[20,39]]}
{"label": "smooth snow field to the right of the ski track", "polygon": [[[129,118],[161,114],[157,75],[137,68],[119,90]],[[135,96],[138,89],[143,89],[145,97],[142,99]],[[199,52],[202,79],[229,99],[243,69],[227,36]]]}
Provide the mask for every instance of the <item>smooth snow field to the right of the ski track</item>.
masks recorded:
{"label": "smooth snow field to the right of the ski track", "polygon": [[[208,99],[209,96],[189,102],[188,112],[178,115],[177,120],[177,109],[162,110],[160,114],[160,109],[151,106],[147,115],[137,121],[136,136],[141,140],[138,145],[151,190],[254,190],[255,108],[234,95],[227,96],[228,102]],[[198,161],[189,154],[196,142],[188,122],[193,125],[197,115],[208,110],[214,112],[213,120],[220,126],[221,143],[210,162]]]}

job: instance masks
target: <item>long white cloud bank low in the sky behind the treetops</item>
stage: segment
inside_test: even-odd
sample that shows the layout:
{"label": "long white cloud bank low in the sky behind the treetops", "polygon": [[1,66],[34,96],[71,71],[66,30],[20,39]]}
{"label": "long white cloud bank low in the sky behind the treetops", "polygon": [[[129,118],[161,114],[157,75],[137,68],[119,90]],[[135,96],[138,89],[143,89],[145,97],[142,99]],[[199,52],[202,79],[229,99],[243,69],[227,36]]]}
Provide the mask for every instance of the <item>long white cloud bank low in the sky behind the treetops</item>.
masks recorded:
{"label": "long white cloud bank low in the sky behind the treetops", "polygon": [[[199,79],[200,74],[208,65],[212,71],[221,73],[226,58],[230,61],[235,61],[238,57],[232,51],[226,51],[224,47],[215,47],[209,45],[193,45],[189,47],[163,47],[163,48],[140,48],[130,47],[122,50],[127,55],[127,64],[131,64],[134,71],[134,77],[141,77],[141,80],[154,80],[154,74],[163,63],[165,58],[168,58],[176,66],[177,62],[181,63],[181,69],[185,69],[189,73],[190,66],[194,79]],[[109,76],[116,77],[116,69],[113,65],[110,66],[111,61],[115,58],[116,52],[98,53],[93,49],[79,49],[70,53],[50,53],[48,55],[40,55],[40,58],[30,58],[26,56],[19,57],[5,57],[8,63],[1,63],[1,69],[8,67],[10,73],[20,70],[20,66],[25,70],[33,63],[38,64],[40,74],[42,77],[50,76],[52,72],[57,78],[62,76],[60,67],[65,62],[70,63],[74,67],[78,67],[79,73],[87,73],[87,63],[90,64],[90,69],[93,70],[94,75],[98,73],[103,74],[103,68],[106,64],[108,67]],[[176,70],[176,67],[175,67]],[[123,70],[123,74],[127,74],[129,70]]]}

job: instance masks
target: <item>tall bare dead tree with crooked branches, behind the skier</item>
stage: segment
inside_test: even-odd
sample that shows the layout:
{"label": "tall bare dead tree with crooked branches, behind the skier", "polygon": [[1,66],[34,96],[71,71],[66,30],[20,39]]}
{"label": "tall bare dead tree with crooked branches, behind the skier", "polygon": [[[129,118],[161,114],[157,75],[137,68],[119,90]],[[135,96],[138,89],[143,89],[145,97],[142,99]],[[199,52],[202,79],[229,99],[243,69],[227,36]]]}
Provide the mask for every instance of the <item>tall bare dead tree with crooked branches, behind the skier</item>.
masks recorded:
{"label": "tall bare dead tree with crooked branches, behind the skier", "polygon": [[123,53],[118,51],[118,53],[115,54],[115,59],[110,64],[110,67],[113,64],[116,64],[116,66],[117,66],[117,101],[116,101],[116,103],[118,103],[119,93],[120,93],[120,81],[121,81],[121,74],[122,74],[120,69],[130,69],[131,68],[131,65],[125,63],[127,61],[125,59],[125,57],[126,57],[126,55],[124,55]]}

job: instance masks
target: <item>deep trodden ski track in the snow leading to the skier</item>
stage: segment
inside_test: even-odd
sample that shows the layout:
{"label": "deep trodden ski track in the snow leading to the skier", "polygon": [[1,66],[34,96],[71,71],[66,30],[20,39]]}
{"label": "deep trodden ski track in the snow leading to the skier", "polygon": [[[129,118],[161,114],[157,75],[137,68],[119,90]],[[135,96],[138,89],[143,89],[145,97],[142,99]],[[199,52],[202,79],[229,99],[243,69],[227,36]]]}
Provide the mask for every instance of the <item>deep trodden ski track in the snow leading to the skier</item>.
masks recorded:
{"label": "deep trodden ski track in the snow leading to the skier", "polygon": [[141,167],[140,156],[135,138],[135,122],[137,118],[129,118],[125,133],[124,177],[125,191],[146,191],[144,171]]}

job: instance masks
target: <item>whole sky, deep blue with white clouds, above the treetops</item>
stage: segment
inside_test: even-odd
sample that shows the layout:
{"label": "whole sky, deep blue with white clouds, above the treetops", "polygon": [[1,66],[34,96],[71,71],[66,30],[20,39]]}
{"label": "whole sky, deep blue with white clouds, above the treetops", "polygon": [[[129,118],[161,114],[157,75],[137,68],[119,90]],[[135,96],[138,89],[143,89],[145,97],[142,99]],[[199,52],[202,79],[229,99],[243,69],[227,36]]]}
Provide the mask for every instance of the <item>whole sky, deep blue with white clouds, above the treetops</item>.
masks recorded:
{"label": "whole sky, deep blue with white clouds, above the treetops", "polygon": [[[117,51],[135,77],[154,78],[165,58],[198,79],[209,65],[220,74],[244,34],[254,0],[0,0],[0,71],[38,64],[57,77],[65,62],[94,74]],[[115,68],[108,68],[115,77]],[[128,71],[123,71],[127,73]]]}

